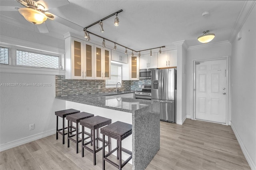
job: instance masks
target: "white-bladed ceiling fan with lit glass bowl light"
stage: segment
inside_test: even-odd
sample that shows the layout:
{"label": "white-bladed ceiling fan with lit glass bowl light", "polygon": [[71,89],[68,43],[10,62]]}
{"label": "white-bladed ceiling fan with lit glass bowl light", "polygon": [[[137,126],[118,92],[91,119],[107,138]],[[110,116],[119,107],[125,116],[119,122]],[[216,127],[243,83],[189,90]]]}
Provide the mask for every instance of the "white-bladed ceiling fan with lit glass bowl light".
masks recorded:
{"label": "white-bladed ceiling fan with lit glass bowl light", "polygon": [[[19,2],[23,7],[16,7],[16,2]],[[50,8],[57,8],[69,4],[68,0],[15,0],[2,1],[1,11],[18,10],[20,14],[30,23],[37,26],[39,32],[48,33],[49,30],[45,24],[47,19],[54,20],[58,18],[54,14],[47,12]],[[15,2],[12,3],[12,2]]]}

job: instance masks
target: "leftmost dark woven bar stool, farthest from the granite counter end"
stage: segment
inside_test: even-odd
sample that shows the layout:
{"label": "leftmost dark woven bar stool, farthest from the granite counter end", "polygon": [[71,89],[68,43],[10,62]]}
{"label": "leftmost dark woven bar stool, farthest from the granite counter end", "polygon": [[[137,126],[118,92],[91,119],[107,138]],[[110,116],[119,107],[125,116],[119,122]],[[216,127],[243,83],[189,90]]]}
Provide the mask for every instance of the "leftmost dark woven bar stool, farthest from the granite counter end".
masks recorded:
{"label": "leftmost dark woven bar stool, farthest from the granite counter end", "polygon": [[[65,133],[64,130],[68,127],[64,127],[64,119],[67,115],[71,115],[74,113],[79,113],[80,111],[75,109],[66,109],[62,111],[56,111],[55,115],[57,117],[56,119],[56,140],[58,139],[58,133],[62,135],[62,144],[65,144],[64,136],[68,133]],[[58,117],[62,118],[62,128],[58,129]]]}

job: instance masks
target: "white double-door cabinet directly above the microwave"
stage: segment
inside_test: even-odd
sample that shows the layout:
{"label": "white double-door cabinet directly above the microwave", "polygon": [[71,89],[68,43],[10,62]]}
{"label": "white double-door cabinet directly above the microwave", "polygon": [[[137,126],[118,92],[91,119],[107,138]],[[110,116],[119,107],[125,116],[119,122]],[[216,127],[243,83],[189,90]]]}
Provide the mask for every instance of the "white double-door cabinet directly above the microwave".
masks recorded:
{"label": "white double-door cabinet directly above the microwave", "polygon": [[157,53],[140,55],[140,69],[157,68]]}

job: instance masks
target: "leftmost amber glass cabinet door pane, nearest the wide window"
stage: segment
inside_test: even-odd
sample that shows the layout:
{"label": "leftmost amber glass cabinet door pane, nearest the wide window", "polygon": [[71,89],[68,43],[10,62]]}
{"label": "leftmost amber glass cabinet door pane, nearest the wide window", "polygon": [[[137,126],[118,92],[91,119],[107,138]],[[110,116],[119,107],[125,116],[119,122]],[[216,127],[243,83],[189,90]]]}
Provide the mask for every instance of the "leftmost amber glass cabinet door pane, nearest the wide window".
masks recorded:
{"label": "leftmost amber glass cabinet door pane, nearest the wide window", "polygon": [[74,41],[74,76],[82,77],[82,45],[81,42]]}

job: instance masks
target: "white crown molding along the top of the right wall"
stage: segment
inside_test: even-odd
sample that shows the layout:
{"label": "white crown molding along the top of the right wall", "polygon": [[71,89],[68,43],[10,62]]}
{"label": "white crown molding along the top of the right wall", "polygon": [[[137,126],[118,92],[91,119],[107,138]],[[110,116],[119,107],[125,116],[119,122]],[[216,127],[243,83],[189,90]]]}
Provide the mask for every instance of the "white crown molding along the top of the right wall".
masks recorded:
{"label": "white crown molding along the top of the right wall", "polygon": [[241,30],[242,26],[244,25],[244,22],[246,21],[247,17],[250,15],[250,12],[252,11],[255,4],[256,4],[255,0],[246,0],[244,2],[244,6],[242,7],[242,10],[236,20],[236,24],[234,25],[230,35],[229,41],[231,43],[233,43],[233,41],[236,39],[236,35]]}

